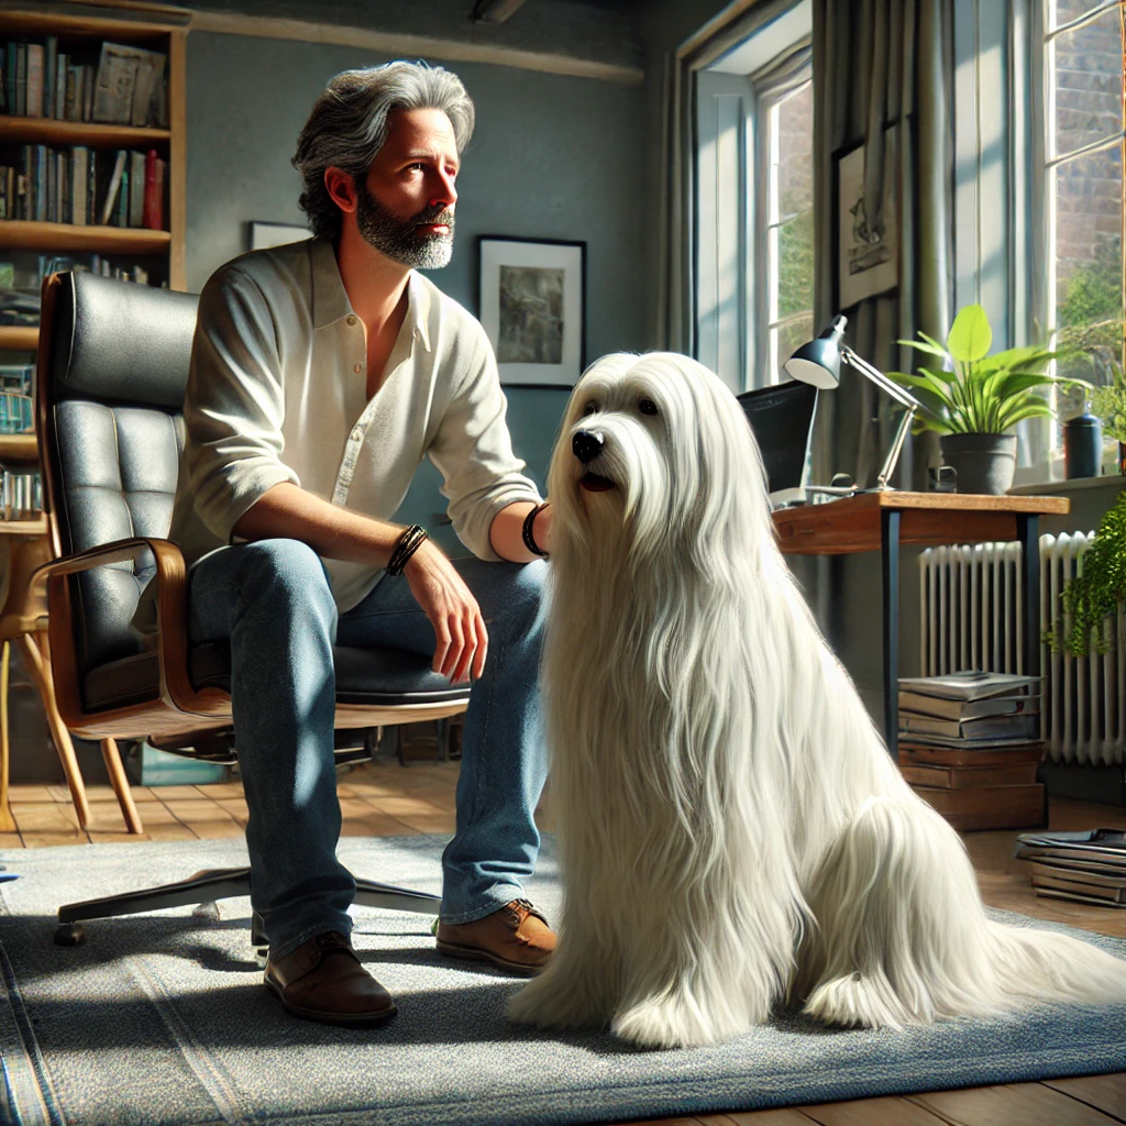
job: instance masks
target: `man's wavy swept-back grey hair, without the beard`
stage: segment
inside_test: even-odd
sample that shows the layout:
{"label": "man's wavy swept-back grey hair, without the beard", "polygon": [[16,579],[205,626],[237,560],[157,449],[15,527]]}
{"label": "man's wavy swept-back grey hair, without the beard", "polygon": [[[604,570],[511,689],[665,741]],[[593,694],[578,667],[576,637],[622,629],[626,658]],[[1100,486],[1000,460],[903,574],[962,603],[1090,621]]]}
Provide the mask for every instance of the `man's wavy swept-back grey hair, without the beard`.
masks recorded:
{"label": "man's wavy swept-back grey hair, without the beard", "polygon": [[458,153],[473,135],[473,102],[462,80],[441,66],[400,60],[337,74],[316,99],[293,158],[304,185],[298,203],[314,236],[340,235],[340,208],[324,187],[325,169],[363,180],[387,140],[393,109],[440,109],[454,126]]}

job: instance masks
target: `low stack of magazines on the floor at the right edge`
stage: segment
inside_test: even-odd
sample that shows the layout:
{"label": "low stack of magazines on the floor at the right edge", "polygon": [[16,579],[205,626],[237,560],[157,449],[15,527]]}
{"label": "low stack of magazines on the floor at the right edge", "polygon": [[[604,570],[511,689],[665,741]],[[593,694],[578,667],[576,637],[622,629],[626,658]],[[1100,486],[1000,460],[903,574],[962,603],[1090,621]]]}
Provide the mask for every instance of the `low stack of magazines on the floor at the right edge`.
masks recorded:
{"label": "low stack of magazines on the floor at the right edge", "polygon": [[1126,908],[1126,831],[1021,833],[1017,859],[1028,860],[1037,895]]}

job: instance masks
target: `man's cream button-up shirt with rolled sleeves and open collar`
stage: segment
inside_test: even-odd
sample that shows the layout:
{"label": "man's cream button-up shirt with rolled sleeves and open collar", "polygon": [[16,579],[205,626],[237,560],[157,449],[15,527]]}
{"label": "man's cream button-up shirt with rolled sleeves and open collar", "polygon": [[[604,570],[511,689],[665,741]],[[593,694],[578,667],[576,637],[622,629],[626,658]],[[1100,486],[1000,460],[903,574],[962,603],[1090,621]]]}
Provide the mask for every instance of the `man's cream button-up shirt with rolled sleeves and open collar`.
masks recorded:
{"label": "man's cream button-up shirt with rolled sleeves and open collar", "polygon": [[[492,348],[477,320],[414,271],[385,377],[367,396],[364,325],[330,242],[252,251],[199,297],[184,403],[186,441],[170,538],[189,564],[232,542],[239,518],[283,481],[378,520],[429,456],[458,538],[497,560],[493,517],[538,501],[512,453]],[[325,558],[338,609],[382,570]],[[143,599],[143,602],[148,601]],[[151,629],[151,607],[134,623]]]}

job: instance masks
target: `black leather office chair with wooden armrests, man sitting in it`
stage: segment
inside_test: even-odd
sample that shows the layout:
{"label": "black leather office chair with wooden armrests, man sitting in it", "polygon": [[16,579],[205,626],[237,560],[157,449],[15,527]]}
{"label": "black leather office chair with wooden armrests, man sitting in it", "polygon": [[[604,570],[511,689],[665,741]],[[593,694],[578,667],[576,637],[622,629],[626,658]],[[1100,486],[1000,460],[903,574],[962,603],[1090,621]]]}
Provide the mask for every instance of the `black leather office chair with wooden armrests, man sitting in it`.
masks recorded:
{"label": "black leather office chair with wooden armrests, man sitting in it", "polygon": [[[36,417],[54,558],[46,583],[50,650],[66,727],[101,740],[149,739],[212,761],[231,754],[230,646],[191,644],[187,571],[169,525],[184,447],[181,409],[196,298],[87,272],[44,283]],[[129,620],[159,584],[157,652]],[[339,731],[443,720],[464,712],[430,662],[396,650],[337,646]],[[440,900],[357,881],[356,901],[437,914]],[[176,884],[70,903],[55,940],[82,941],[88,919],[154,911],[250,892],[250,869],[202,872]],[[266,944],[257,915],[251,940]]]}

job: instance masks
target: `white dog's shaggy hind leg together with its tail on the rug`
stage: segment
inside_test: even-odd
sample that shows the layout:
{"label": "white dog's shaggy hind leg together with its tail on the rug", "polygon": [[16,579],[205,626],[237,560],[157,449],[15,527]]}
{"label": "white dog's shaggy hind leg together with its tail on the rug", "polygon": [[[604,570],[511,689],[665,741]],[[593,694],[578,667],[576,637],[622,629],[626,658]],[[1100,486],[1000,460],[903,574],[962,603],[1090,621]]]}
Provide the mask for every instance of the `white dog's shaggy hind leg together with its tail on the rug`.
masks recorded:
{"label": "white dog's shaggy hind leg together with its tail on the rug", "polygon": [[830,1024],[897,1028],[1035,1001],[1126,1002],[1126,962],[991,921],[957,833],[913,797],[867,802],[808,902],[816,926],[793,992]]}

